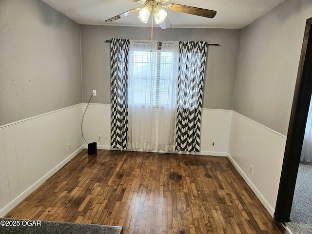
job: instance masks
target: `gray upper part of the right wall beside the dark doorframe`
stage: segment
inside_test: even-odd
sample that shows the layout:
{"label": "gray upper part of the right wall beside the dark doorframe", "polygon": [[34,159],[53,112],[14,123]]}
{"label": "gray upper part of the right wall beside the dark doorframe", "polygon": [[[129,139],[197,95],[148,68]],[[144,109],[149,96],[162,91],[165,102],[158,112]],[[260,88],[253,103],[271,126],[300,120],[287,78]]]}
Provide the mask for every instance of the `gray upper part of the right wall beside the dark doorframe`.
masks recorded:
{"label": "gray upper part of the right wall beside the dark doorframe", "polygon": [[287,135],[311,0],[286,0],[242,30],[234,111]]}

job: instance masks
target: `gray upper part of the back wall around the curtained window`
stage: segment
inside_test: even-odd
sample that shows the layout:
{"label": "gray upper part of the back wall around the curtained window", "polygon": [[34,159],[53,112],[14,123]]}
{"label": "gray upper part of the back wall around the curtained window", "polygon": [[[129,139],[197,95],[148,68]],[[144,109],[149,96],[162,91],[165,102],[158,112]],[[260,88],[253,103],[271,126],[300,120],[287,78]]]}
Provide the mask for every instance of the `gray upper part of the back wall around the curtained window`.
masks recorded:
{"label": "gray upper part of the back wall around the curtained window", "polygon": [[[204,108],[232,109],[234,84],[241,30],[236,29],[154,29],[154,39],[203,40],[218,43],[210,46],[205,80]],[[94,103],[110,103],[110,44],[111,38],[150,39],[151,29],[81,25],[83,102],[97,89]]]}

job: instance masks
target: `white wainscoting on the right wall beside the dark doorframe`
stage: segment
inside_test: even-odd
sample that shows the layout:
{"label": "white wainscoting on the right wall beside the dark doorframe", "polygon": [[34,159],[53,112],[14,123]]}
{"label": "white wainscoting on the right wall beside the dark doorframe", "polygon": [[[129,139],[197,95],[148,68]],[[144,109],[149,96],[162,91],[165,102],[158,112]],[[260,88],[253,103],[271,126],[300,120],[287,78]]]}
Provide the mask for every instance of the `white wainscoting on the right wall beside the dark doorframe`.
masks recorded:
{"label": "white wainscoting on the right wall beside the dark doorframe", "polygon": [[233,111],[228,157],[272,216],[285,145],[285,136]]}

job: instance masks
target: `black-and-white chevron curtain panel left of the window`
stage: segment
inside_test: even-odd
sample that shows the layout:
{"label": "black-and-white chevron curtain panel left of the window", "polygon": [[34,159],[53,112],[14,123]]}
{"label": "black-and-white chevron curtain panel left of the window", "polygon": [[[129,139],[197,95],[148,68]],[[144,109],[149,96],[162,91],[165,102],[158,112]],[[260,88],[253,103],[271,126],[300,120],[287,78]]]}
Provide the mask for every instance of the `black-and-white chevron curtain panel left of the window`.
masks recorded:
{"label": "black-and-white chevron curtain panel left of the window", "polygon": [[125,149],[128,131],[128,53],[129,40],[111,42],[111,146]]}

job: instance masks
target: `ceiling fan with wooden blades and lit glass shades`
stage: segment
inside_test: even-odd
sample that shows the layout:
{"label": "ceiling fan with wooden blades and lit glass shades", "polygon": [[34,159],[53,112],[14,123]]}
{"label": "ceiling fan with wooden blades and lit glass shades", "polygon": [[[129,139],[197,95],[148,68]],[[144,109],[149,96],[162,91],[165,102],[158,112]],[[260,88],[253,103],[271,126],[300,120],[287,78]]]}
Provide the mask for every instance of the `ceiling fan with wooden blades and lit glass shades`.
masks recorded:
{"label": "ceiling fan with wooden blades and lit glass shades", "polygon": [[112,21],[118,20],[122,17],[128,16],[138,11],[139,12],[138,19],[141,20],[143,23],[147,23],[150,17],[150,14],[152,12],[152,17],[155,19],[155,23],[159,24],[159,26],[162,29],[166,29],[166,28],[170,28],[172,25],[167,18],[167,12],[162,8],[167,8],[168,10],[171,10],[171,11],[177,11],[177,12],[187,13],[191,15],[202,16],[206,18],[214,18],[216,14],[216,11],[207,10],[203,8],[197,8],[193,6],[185,6],[185,5],[175,4],[175,3],[163,5],[163,3],[167,2],[168,0],[131,0],[131,1],[144,4],[144,7],[142,8],[138,7],[130,11],[126,11],[122,14],[114,16],[108,20],[105,20],[105,22],[112,22]]}

